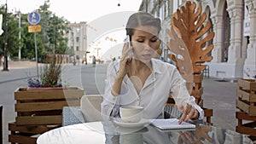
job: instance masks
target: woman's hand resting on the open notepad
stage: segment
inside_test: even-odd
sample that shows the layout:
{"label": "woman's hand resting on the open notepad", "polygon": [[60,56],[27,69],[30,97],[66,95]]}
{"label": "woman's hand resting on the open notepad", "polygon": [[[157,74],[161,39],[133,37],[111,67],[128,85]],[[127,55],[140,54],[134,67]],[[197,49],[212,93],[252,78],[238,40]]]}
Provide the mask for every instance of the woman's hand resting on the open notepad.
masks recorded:
{"label": "woman's hand resting on the open notepad", "polygon": [[186,103],[183,107],[183,115],[179,118],[178,124],[182,124],[183,121],[188,121],[189,119],[199,118],[199,112],[192,105]]}

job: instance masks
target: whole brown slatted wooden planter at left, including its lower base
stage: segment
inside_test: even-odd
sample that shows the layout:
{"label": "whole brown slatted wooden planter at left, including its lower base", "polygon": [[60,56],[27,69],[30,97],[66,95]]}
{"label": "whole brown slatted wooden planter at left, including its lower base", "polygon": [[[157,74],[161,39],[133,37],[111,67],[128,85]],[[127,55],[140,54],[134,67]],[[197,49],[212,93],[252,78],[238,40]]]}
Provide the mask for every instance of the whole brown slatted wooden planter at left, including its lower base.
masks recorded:
{"label": "whole brown slatted wooden planter at left, including its lower base", "polygon": [[38,135],[62,125],[62,108],[80,106],[84,89],[15,90],[14,123],[9,123],[9,142],[36,144]]}

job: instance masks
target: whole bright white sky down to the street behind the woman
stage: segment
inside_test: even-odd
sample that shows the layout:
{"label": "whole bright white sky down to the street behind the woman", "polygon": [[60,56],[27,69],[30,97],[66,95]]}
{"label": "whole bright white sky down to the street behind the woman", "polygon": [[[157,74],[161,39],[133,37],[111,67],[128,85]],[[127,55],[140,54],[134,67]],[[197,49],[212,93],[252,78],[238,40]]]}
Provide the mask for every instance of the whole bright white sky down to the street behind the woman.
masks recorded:
{"label": "whole bright white sky down to the street behind the woman", "polygon": [[[0,4],[6,1],[9,12],[20,10],[22,14],[28,14],[44,5],[45,0],[0,0]],[[92,50],[90,55],[96,55],[93,49],[101,47],[102,58],[107,60],[120,55],[125,39],[124,26],[141,3],[142,0],[49,0],[49,10],[71,23],[87,22],[86,50]]]}

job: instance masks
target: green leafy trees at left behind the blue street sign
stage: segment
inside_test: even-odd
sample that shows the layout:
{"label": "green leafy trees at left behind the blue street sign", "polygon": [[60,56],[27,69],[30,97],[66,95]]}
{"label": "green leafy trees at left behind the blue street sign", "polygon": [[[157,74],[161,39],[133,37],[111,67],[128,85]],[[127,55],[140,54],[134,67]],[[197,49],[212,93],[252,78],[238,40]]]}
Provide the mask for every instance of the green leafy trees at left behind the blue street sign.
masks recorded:
{"label": "green leafy trees at left behind the blue street sign", "polygon": [[[41,15],[41,20],[38,25],[41,25],[41,32],[36,33],[38,58],[46,53],[67,54],[70,53],[67,47],[67,38],[65,33],[69,31],[67,24],[69,21],[63,17],[58,17],[48,11],[49,5],[46,3],[38,9]],[[5,28],[5,6],[0,7],[0,14],[3,14],[3,30]],[[21,58],[35,58],[35,40],[34,33],[28,32],[29,23],[27,14],[21,14],[21,28],[19,29],[18,14],[8,13],[8,55],[10,58],[18,57],[19,47],[21,48]],[[21,38],[19,39],[19,32]],[[4,51],[5,32],[0,36],[0,55]]]}

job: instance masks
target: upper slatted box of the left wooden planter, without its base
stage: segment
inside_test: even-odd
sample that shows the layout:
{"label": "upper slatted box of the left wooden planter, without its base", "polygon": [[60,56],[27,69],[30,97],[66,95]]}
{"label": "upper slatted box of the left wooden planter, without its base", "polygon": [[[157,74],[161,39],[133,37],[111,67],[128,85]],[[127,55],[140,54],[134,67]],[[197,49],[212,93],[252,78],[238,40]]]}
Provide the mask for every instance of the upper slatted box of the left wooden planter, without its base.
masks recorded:
{"label": "upper slatted box of the left wooden planter, without its base", "polygon": [[17,125],[48,125],[62,123],[62,108],[66,106],[80,106],[80,98],[84,89],[39,89],[15,90],[15,112]]}

